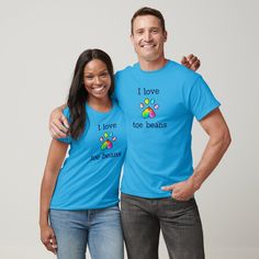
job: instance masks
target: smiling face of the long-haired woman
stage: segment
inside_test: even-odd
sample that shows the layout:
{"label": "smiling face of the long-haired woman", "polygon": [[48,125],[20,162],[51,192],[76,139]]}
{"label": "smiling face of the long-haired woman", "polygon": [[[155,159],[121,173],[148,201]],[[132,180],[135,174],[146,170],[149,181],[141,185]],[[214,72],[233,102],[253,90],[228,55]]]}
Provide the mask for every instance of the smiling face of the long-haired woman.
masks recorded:
{"label": "smiling face of the long-haired woman", "polygon": [[83,83],[89,98],[108,98],[111,88],[111,77],[106,65],[100,59],[88,63],[83,69]]}

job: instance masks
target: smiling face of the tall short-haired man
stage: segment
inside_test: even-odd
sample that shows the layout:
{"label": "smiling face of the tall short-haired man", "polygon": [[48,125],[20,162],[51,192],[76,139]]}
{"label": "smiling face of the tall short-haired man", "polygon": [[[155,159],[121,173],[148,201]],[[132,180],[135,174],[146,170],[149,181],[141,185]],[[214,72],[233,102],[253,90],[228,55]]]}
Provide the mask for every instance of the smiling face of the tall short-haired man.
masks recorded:
{"label": "smiling face of the tall short-haired man", "polygon": [[164,57],[167,32],[162,32],[158,18],[154,15],[136,16],[131,38],[139,61],[155,61]]}

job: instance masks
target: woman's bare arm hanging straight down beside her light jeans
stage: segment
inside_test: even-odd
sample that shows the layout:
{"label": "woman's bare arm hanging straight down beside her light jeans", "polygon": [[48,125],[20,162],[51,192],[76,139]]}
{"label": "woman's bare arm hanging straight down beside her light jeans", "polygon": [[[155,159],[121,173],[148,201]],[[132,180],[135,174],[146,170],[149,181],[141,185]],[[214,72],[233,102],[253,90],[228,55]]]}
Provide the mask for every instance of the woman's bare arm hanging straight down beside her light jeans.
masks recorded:
{"label": "woman's bare arm hanging straight down beside her light jeans", "polygon": [[47,161],[44,170],[44,176],[41,187],[41,201],[40,201],[40,227],[41,239],[45,247],[56,254],[56,239],[52,227],[48,224],[49,203],[56,185],[59,169],[66,156],[68,144],[53,139]]}

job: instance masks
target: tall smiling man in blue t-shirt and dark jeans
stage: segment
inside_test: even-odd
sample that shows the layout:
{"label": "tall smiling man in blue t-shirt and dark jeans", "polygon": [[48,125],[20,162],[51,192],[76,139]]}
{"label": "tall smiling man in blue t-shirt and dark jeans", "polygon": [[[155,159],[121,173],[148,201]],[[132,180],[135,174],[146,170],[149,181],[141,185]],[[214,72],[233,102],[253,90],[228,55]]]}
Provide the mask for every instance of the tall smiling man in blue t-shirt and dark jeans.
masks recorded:
{"label": "tall smiling man in blue t-shirt and dark jeans", "polygon": [[[228,148],[229,131],[202,77],[165,58],[167,32],[158,10],[143,8],[133,15],[131,38],[138,63],[116,74],[115,94],[128,134],[121,187],[127,255],[157,259],[161,229],[170,258],[202,259],[194,193]],[[194,169],[193,116],[210,137]],[[53,117],[53,135],[59,136],[60,112]]]}

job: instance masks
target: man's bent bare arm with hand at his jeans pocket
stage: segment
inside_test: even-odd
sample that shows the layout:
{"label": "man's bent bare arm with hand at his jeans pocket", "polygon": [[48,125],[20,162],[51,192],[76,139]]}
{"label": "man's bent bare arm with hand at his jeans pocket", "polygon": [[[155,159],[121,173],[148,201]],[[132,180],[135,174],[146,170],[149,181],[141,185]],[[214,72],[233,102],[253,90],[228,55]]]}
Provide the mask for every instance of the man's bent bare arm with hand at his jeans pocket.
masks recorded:
{"label": "man's bent bare arm with hand at his jeans pocket", "polygon": [[202,119],[200,124],[210,136],[210,139],[193,174],[187,181],[162,188],[164,191],[172,191],[172,198],[180,201],[189,200],[201,188],[221,161],[232,140],[219,109]]}

